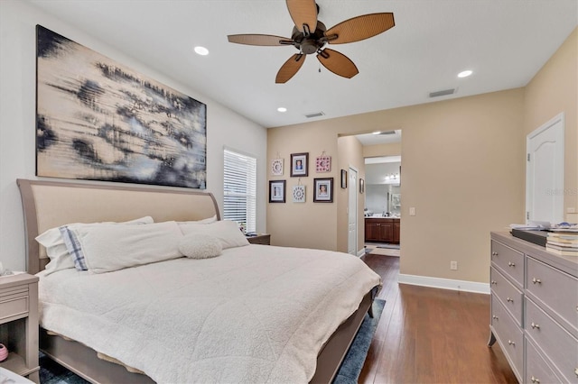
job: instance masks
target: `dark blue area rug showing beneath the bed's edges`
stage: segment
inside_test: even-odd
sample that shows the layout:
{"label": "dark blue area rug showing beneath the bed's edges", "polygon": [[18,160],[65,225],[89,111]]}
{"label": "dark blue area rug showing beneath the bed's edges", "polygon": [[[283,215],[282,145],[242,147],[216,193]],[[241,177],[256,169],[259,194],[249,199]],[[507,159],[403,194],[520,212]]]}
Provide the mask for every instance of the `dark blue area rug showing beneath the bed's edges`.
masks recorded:
{"label": "dark blue area rug showing beneath the bed's edges", "polygon": [[[379,317],[383,312],[385,300],[375,299],[373,302],[373,318],[365,315],[363,323],[359,327],[359,333],[351,343],[350,351],[347,352],[345,359],[341,363],[340,370],[333,380],[333,384],[356,384],[359,379],[359,373],[363,368],[363,363],[368,356],[371,339],[378,327]],[[42,384],[89,384],[89,381],[82,379],[70,370],[62,367],[42,352],[40,358],[40,382]]]}

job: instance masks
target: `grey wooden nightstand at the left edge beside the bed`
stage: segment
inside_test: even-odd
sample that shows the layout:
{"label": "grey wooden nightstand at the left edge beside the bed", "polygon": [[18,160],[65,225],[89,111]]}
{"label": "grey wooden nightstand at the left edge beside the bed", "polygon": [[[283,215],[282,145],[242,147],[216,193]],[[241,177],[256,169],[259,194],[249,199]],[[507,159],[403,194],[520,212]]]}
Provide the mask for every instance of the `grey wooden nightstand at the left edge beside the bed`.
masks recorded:
{"label": "grey wooden nightstand at the left edge beside the bed", "polygon": [[0,343],[10,352],[0,367],[40,382],[36,276],[20,273],[0,277]]}

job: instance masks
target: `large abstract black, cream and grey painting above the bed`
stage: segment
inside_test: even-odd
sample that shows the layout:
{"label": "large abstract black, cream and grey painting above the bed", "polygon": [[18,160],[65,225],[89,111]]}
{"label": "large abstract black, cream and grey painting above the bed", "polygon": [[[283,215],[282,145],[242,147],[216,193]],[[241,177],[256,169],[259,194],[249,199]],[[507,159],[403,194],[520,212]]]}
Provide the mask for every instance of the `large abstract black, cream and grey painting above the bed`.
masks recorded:
{"label": "large abstract black, cream and grey painting above the bed", "polygon": [[206,187],[207,105],[36,26],[36,175]]}

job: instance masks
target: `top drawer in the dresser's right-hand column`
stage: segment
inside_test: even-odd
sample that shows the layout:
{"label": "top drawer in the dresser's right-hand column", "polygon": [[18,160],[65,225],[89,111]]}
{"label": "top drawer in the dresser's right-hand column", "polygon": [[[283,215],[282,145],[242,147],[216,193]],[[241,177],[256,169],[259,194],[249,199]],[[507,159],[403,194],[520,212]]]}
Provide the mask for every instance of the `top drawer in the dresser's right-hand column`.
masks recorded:
{"label": "top drawer in the dresser's right-hand column", "polygon": [[526,289],[578,337],[578,279],[528,257]]}

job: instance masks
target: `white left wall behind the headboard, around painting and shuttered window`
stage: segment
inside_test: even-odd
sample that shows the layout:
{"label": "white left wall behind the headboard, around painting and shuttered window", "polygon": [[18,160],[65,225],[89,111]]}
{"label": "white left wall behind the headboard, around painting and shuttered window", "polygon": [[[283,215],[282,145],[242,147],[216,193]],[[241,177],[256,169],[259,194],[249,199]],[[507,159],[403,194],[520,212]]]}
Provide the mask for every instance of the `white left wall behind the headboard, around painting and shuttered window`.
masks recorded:
{"label": "white left wall behind the headboard, around painting and shuttered window", "polygon": [[0,1],[0,261],[10,270],[25,269],[23,210],[16,178],[35,178],[36,32],[42,24],[173,87],[207,105],[207,190],[222,211],[223,147],[256,156],[257,231],[266,232],[266,128],[219,102],[185,87],[33,5]]}

